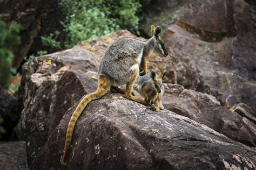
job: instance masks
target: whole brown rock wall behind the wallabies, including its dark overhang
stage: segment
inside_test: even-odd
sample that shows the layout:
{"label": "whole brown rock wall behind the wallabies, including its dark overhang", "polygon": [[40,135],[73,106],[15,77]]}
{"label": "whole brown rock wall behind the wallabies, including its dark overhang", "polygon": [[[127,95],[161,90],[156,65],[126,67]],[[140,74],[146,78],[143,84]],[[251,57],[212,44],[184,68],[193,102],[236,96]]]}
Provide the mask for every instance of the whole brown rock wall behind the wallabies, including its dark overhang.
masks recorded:
{"label": "whole brown rock wall behind the wallabies, including its dark overhang", "polygon": [[245,103],[256,112],[255,6],[242,0],[164,2],[152,1],[140,29],[163,26],[171,60],[156,58],[160,64],[149,67],[176,71],[178,84],[211,94],[226,108]]}

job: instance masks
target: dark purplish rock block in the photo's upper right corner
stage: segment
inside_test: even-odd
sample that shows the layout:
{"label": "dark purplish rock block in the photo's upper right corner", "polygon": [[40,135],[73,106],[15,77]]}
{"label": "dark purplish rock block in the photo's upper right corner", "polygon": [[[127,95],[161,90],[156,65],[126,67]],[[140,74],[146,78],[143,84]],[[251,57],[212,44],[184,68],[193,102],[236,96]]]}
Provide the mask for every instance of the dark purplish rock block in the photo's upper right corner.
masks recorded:
{"label": "dark purplish rock block in the photo's upper right corner", "polygon": [[256,80],[256,8],[253,3],[235,0],[234,16],[237,27],[237,37],[232,43],[234,66],[240,76]]}

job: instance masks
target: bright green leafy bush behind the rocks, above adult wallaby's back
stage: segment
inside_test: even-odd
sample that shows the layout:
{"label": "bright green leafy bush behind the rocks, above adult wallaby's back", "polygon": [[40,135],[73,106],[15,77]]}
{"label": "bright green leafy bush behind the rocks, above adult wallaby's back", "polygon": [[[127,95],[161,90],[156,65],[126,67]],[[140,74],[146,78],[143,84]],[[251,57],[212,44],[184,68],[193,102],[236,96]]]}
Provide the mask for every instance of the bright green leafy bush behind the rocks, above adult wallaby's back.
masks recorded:
{"label": "bright green leafy bush behind the rocks, above adult wallaby's back", "polygon": [[[149,0],[147,0],[149,1]],[[64,30],[42,36],[43,45],[53,48],[70,48],[80,40],[104,36],[119,29],[138,33],[137,16],[141,8],[139,0],[61,0],[59,1],[64,20]],[[59,33],[64,31],[65,42],[60,43]]]}

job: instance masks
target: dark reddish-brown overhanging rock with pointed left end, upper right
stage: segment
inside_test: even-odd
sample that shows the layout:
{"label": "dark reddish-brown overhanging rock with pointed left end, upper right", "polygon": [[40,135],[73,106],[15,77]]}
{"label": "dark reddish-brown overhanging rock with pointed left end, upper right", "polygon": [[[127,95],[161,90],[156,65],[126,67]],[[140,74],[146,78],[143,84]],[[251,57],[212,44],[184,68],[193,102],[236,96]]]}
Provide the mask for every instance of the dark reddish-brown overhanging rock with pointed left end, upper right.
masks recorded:
{"label": "dark reddish-brown overhanging rock with pointed left end, upper right", "polygon": [[205,2],[180,17],[177,25],[198,33],[205,41],[220,41],[224,36],[234,34],[233,2]]}

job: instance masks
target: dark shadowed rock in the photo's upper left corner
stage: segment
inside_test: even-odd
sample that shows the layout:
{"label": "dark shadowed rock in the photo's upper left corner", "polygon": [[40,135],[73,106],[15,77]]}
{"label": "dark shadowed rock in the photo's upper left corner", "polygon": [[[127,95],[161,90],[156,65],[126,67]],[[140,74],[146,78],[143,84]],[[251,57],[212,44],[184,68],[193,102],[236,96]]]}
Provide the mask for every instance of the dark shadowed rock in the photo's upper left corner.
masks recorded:
{"label": "dark shadowed rock in the photo's upper left corner", "polygon": [[19,68],[30,49],[33,39],[41,28],[41,19],[48,10],[51,1],[25,0],[25,1],[0,1],[0,19],[8,26],[12,22],[21,24],[21,44],[14,47],[12,66]]}

